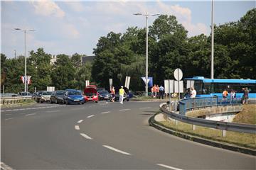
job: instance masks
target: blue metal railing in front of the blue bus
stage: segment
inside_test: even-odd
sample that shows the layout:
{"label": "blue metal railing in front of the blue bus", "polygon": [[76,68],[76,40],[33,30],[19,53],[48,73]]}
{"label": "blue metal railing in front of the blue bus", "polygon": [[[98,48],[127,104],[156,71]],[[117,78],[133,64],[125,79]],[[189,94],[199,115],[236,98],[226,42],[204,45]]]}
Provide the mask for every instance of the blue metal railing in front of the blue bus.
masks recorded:
{"label": "blue metal railing in front of the blue bus", "polygon": [[201,98],[185,98],[179,103],[179,113],[186,115],[186,111],[191,111],[195,108],[207,108],[213,106],[238,106],[241,104],[240,96],[236,98],[219,98],[218,96],[213,97],[201,97]]}

